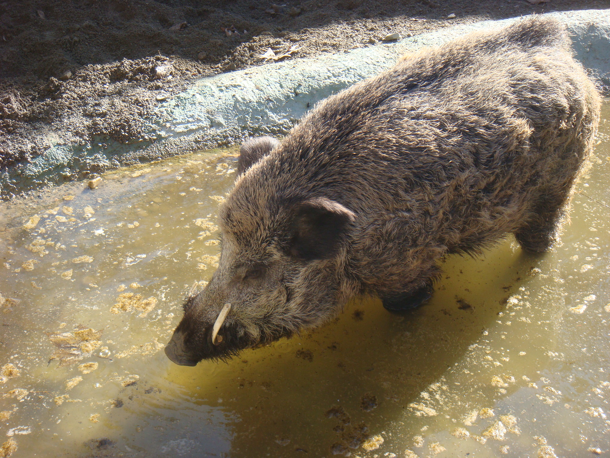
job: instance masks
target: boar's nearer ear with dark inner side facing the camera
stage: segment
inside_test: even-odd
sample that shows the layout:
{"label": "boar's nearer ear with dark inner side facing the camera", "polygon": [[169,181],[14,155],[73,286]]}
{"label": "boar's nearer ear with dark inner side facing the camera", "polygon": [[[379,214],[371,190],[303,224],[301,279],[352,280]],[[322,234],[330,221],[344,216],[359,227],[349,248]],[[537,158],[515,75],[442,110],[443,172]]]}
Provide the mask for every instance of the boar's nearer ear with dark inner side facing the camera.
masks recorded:
{"label": "boar's nearer ear with dark inner side facing the camera", "polygon": [[334,200],[313,198],[296,204],[289,253],[303,261],[336,255],[356,215]]}

